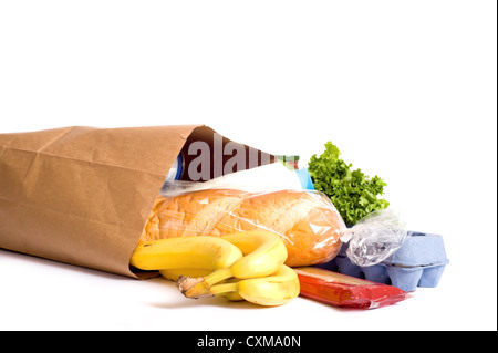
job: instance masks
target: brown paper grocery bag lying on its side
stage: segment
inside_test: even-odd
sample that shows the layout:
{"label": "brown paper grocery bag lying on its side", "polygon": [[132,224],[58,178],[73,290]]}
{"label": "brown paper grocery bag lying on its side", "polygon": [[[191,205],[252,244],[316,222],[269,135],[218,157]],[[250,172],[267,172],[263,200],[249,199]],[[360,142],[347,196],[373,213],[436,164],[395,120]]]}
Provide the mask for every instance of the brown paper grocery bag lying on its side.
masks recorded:
{"label": "brown paper grocery bag lying on its side", "polygon": [[217,138],[204,125],[0,134],[0,248],[136,278],[129,258],[170,166]]}

